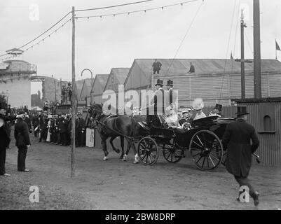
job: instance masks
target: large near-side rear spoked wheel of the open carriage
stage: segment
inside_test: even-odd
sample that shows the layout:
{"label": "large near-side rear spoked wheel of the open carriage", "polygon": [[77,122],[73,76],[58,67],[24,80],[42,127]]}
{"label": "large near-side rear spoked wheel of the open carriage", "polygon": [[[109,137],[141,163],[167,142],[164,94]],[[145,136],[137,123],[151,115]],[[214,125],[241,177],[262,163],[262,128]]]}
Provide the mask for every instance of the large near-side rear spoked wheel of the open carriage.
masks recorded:
{"label": "large near-side rear spoked wheel of the open carriage", "polygon": [[201,130],[193,135],[189,151],[196,166],[201,170],[216,169],[223,158],[223,146],[219,137],[208,130]]}

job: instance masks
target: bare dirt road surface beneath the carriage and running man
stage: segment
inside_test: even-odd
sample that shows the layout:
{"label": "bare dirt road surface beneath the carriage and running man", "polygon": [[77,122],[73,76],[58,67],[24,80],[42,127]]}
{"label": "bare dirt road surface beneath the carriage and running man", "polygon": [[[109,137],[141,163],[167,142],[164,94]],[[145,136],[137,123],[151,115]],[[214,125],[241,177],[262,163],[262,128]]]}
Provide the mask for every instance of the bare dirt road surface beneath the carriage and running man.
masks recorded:
{"label": "bare dirt road surface beneath the carriage and running man", "polygon": [[[12,141],[11,146],[14,145]],[[0,176],[0,209],[256,209],[252,200],[236,202],[238,184],[223,166],[202,172],[190,158],[170,164],[160,155],[153,167],[134,165],[110,151],[76,148],[76,177],[70,176],[70,147],[38,143],[32,137],[27,168],[17,172],[18,151],[7,151]],[[261,194],[257,209],[281,209],[281,167],[254,165],[249,178]],[[29,202],[29,187],[39,187],[39,203]]]}

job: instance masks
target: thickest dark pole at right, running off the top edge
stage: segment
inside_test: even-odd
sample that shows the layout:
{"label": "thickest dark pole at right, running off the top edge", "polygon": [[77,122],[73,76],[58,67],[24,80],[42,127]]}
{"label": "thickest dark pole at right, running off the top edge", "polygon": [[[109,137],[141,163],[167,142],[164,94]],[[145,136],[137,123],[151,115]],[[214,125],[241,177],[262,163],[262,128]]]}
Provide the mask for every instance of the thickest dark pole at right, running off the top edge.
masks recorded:
{"label": "thickest dark pole at right, running off the top edge", "polygon": [[261,99],[261,32],[259,0],[254,3],[254,98]]}

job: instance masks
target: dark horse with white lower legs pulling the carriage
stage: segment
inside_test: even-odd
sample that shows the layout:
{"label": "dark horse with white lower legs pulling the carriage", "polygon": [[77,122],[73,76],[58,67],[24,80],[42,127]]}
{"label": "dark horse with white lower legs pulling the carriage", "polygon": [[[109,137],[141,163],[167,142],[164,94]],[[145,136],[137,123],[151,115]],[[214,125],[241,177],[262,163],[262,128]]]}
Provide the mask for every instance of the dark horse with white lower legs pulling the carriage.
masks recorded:
{"label": "dark horse with white lower legs pulling the carriage", "polygon": [[[130,147],[135,154],[134,163],[139,162],[137,150],[133,142],[135,130],[137,130],[137,122],[134,118],[129,116],[107,116],[102,111],[101,104],[93,104],[89,109],[90,116],[95,120],[97,131],[100,133],[102,139],[102,150],[104,151],[104,160],[108,160],[109,152],[107,151],[107,139],[111,137],[110,144],[116,153],[120,153],[118,148],[115,148],[113,141],[116,137],[121,139],[122,154],[120,159],[127,160]],[[128,141],[127,151],[124,154],[124,137]]]}

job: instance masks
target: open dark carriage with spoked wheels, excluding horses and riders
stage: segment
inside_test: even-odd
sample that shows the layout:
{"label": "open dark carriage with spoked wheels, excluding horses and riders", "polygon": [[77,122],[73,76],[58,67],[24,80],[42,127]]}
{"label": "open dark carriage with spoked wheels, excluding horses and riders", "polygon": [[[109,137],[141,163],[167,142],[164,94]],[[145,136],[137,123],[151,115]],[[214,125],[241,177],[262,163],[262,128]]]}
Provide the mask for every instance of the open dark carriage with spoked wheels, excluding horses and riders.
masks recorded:
{"label": "open dark carriage with spoked wheels, excluding horses and riders", "polygon": [[160,127],[149,128],[146,123],[139,123],[137,153],[144,165],[154,165],[160,151],[168,162],[179,162],[189,151],[196,166],[202,170],[215,169],[224,161],[221,139],[226,125],[235,119],[214,116],[193,120],[191,130],[171,129],[159,115],[158,120]]}

